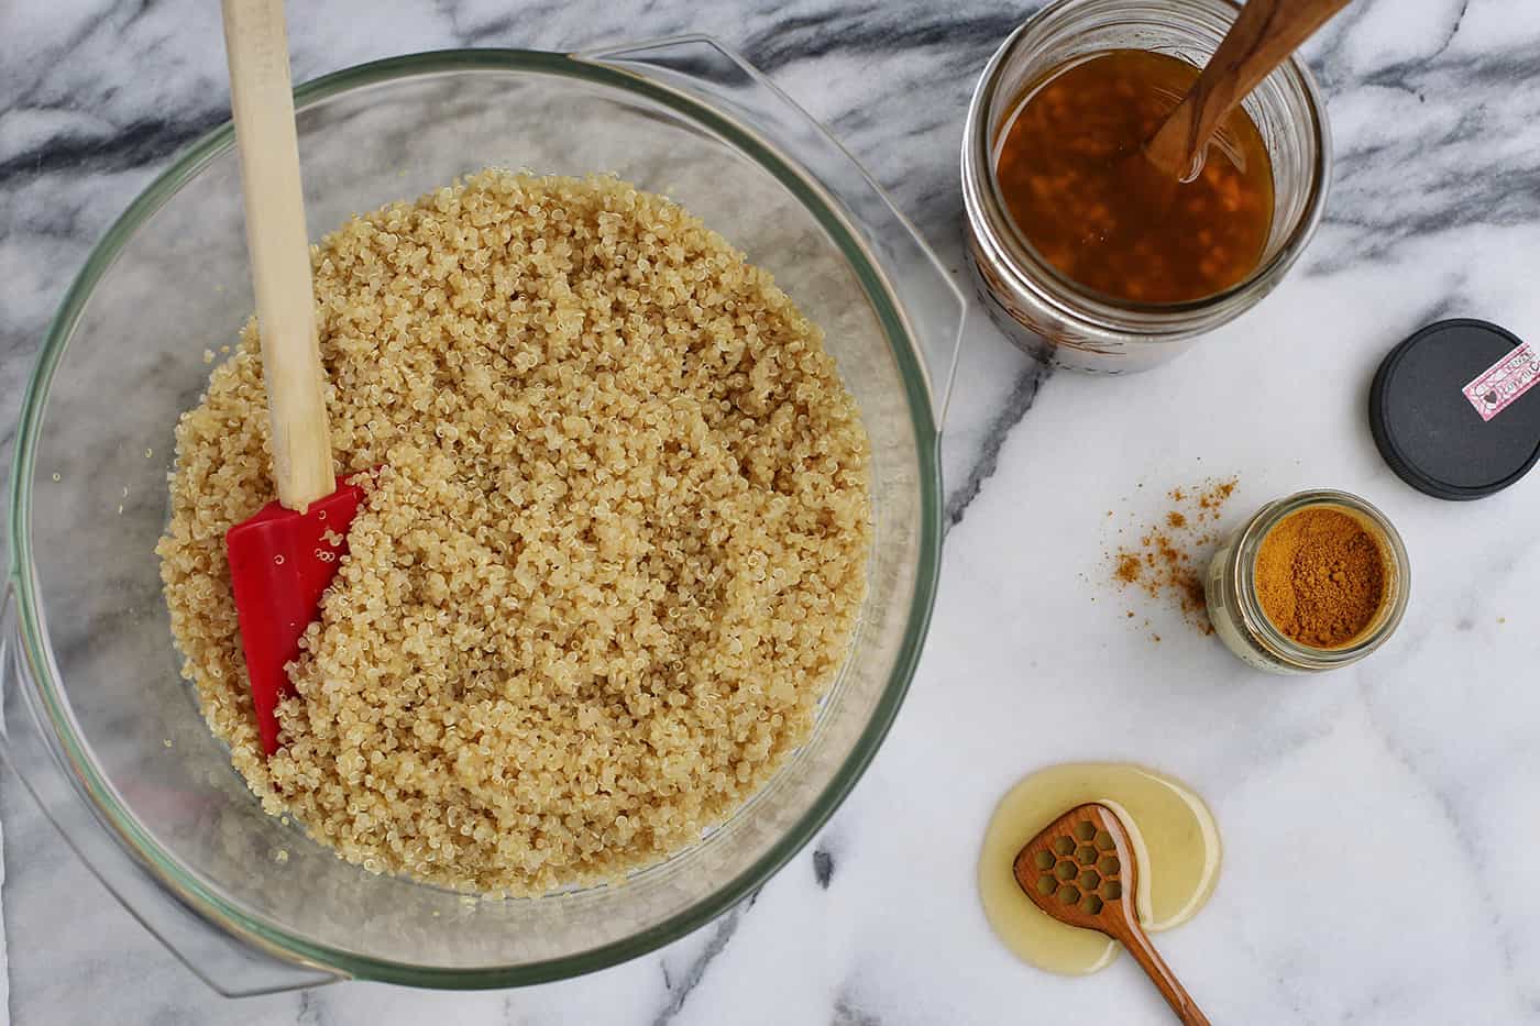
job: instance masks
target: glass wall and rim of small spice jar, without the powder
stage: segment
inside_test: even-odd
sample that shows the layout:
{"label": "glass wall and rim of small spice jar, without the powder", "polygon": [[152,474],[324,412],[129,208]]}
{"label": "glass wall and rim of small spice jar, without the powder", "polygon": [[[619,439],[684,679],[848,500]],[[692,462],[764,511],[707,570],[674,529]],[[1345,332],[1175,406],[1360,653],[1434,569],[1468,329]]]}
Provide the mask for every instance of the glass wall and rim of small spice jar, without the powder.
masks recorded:
{"label": "glass wall and rim of small spice jar, without the powder", "polygon": [[[1384,593],[1374,618],[1343,645],[1320,649],[1278,630],[1257,596],[1257,555],[1274,527],[1301,510],[1326,508],[1351,516],[1380,548]],[[1220,550],[1204,576],[1214,633],[1241,659],[1269,673],[1320,673],[1363,659],[1384,644],[1406,613],[1412,567],[1391,521],[1346,491],[1300,491],[1261,507]]]}

